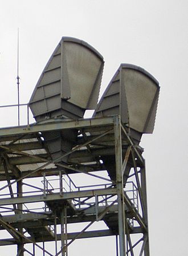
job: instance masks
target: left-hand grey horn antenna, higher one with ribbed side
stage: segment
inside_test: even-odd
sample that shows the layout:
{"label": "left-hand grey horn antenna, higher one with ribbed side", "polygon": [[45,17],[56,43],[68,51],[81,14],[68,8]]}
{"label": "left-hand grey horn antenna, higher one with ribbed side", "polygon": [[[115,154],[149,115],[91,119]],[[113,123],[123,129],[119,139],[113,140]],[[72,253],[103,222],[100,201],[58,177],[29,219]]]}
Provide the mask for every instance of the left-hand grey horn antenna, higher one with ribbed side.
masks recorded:
{"label": "left-hand grey horn antenna, higher one with ribbed side", "polygon": [[31,96],[35,119],[60,115],[75,119],[83,117],[85,109],[95,109],[103,67],[103,56],[92,46],[63,37]]}

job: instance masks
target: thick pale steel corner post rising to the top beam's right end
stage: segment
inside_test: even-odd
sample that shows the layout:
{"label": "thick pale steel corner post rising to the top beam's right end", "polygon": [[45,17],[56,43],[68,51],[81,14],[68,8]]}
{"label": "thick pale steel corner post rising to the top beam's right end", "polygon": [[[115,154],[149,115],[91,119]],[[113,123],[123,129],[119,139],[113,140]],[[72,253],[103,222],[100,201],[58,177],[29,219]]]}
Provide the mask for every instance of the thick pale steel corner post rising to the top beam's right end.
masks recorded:
{"label": "thick pale steel corner post rising to the top beam's right end", "polygon": [[120,256],[126,255],[125,245],[125,209],[124,209],[124,186],[122,177],[122,149],[121,149],[121,120],[120,116],[114,119],[115,131],[115,154],[116,154],[116,187],[118,201],[118,233]]}

